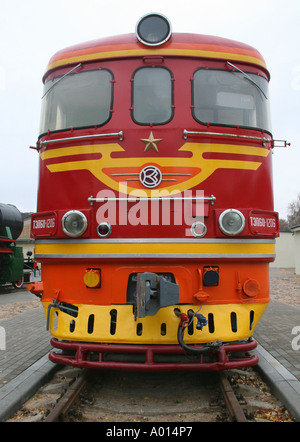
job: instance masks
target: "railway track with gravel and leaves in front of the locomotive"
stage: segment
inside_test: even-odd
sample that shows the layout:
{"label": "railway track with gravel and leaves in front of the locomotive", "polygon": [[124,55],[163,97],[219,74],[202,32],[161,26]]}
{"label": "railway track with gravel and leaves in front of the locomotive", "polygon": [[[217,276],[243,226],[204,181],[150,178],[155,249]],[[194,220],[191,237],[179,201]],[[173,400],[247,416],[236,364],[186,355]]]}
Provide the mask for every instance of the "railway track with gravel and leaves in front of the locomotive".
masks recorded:
{"label": "railway track with gravel and leaves in front of the locomotive", "polygon": [[[69,378],[65,374],[72,369],[58,372],[11,420],[253,422],[269,420],[266,416],[276,413],[284,418],[278,420],[292,420],[253,369],[146,374],[73,370],[75,376]],[[43,395],[51,400],[58,384],[64,394],[43,408]]]}

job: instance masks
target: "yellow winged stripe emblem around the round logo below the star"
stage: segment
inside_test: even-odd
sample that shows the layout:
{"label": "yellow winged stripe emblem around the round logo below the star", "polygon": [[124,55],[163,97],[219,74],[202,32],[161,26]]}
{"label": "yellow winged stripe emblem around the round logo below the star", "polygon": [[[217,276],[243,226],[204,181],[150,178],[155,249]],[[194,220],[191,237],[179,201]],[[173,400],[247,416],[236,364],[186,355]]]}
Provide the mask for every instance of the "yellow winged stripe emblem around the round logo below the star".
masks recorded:
{"label": "yellow winged stripe emblem around the round logo below the star", "polygon": [[[80,154],[101,154],[100,158],[91,158],[88,160],[75,160],[58,162],[47,165],[50,172],[67,172],[74,170],[89,170],[99,181],[119,192],[131,193],[132,196],[144,196],[145,192],[148,196],[152,195],[152,189],[135,189],[131,186],[123,186],[112,177],[103,172],[103,168],[109,167],[141,167],[147,163],[155,163],[161,167],[177,167],[178,171],[181,167],[195,167],[199,169],[199,173],[182,183],[176,183],[165,187],[171,193],[172,191],[182,192],[186,189],[197,186],[200,182],[206,180],[217,169],[246,169],[257,170],[261,165],[261,161],[248,161],[247,156],[257,156],[260,158],[267,157],[270,153],[268,149],[262,147],[252,147],[243,145],[226,145],[226,144],[210,144],[210,143],[185,143],[179,149],[180,152],[192,152],[189,158],[181,157],[140,157],[140,158],[112,158],[113,152],[124,152],[124,149],[117,143],[98,144],[88,146],[62,147],[59,149],[46,150],[41,153],[41,159],[54,159],[67,157],[70,155]],[[241,155],[238,159],[205,159],[205,153],[223,153]],[[244,156],[244,159],[243,159]],[[153,196],[153,195],[152,195]]]}

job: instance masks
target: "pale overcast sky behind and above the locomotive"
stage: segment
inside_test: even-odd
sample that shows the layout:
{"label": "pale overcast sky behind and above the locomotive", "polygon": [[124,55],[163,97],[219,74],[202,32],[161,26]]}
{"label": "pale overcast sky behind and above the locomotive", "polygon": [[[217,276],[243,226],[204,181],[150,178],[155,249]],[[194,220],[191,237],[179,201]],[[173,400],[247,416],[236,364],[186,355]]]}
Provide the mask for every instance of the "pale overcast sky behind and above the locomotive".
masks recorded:
{"label": "pale overcast sky behind and above the locomotive", "polygon": [[271,73],[274,208],[286,218],[300,194],[299,0],[0,0],[0,203],[36,211],[42,76],[58,50],[135,32],[160,12],[173,32],[216,35],[255,47]]}

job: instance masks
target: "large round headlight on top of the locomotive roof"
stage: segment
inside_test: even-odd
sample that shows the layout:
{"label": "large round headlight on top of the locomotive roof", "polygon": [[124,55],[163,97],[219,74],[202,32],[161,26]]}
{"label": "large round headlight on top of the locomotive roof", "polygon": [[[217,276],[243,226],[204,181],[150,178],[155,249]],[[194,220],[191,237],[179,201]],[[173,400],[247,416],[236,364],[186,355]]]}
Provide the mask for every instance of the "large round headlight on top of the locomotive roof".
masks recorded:
{"label": "large round headlight on top of the locomotive roof", "polygon": [[171,23],[162,14],[144,15],[137,22],[136,36],[147,46],[159,46],[169,40],[172,33]]}

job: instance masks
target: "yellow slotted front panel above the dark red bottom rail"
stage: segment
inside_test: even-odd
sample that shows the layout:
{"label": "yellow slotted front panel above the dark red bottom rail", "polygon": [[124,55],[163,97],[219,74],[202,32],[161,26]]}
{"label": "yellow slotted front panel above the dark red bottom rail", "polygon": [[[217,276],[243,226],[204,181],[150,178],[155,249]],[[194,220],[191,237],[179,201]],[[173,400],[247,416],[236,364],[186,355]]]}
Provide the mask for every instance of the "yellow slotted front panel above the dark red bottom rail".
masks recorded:
{"label": "yellow slotted front panel above the dark red bottom rail", "polygon": [[[47,314],[48,303],[43,303],[43,305],[45,314]],[[247,339],[252,335],[253,329],[267,305],[267,303],[203,305],[200,313],[206,318],[209,314],[213,315],[214,331],[210,331],[208,325],[204,326],[202,331],[196,330],[196,319],[194,319],[193,334],[189,335],[186,330],[184,340],[186,343],[196,344],[216,340],[226,342]],[[77,305],[77,307],[78,316],[76,318],[57,308],[51,308],[49,328],[55,338],[98,343],[178,343],[177,329],[180,319],[174,313],[176,306],[161,308],[155,316],[137,318],[136,321],[132,305]],[[199,307],[195,305],[178,306],[182,313],[187,313],[189,309],[196,312]],[[112,311],[116,312],[116,320]],[[236,331],[233,330],[232,313],[235,313],[237,318]],[[92,330],[90,315],[94,315]],[[90,324],[90,329],[88,324]]]}

